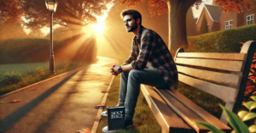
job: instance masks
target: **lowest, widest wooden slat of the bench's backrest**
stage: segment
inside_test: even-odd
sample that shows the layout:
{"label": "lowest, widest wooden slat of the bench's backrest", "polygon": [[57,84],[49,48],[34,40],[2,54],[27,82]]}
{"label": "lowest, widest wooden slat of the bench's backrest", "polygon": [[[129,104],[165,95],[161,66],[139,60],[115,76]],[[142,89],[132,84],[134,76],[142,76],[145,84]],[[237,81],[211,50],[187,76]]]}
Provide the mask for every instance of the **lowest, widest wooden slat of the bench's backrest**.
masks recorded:
{"label": "lowest, widest wooden slat of the bench's backrest", "polygon": [[194,86],[201,91],[206,91],[207,93],[224,100],[224,102],[236,102],[236,96],[238,93],[238,89],[236,88],[219,86],[207,81],[197,80],[183,74],[178,74],[178,80],[189,86]]}

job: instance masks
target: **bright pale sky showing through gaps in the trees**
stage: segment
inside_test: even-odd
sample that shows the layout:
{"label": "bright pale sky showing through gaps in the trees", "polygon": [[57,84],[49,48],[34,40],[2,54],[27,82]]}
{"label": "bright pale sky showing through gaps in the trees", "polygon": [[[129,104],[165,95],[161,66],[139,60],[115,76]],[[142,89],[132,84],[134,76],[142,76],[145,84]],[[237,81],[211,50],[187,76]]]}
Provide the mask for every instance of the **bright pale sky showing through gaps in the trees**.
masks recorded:
{"label": "bright pale sky showing through gaps in the trees", "polygon": [[[201,14],[201,10],[203,9],[203,5],[204,4],[212,4],[212,0],[202,0],[203,3],[201,3],[201,5],[199,6],[199,9],[196,9],[195,7],[192,8],[193,14],[195,18],[198,18],[199,15]],[[108,11],[109,9],[112,8],[112,6],[108,6]],[[108,15],[108,11],[105,12],[105,14],[103,14],[102,16],[96,16],[96,19],[98,21],[98,24],[103,25],[102,23],[104,23],[105,19],[107,18]],[[22,17],[22,19],[26,22],[26,19],[24,17]],[[92,25],[92,26],[98,26],[98,25]],[[54,28],[57,28],[58,26],[55,25]],[[24,28],[24,30],[26,31],[26,34],[28,34],[30,32],[29,29]],[[47,35],[49,33],[49,27],[44,27],[41,29],[42,32],[44,33],[44,35]]]}

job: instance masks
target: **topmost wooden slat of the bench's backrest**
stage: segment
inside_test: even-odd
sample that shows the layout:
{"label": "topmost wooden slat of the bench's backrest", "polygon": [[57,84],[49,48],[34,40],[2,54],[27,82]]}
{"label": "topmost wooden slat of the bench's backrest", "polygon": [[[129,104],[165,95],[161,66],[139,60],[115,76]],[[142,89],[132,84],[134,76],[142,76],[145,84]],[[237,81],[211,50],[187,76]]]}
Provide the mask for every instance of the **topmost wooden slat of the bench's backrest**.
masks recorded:
{"label": "topmost wooden slat of the bench's backrest", "polygon": [[245,53],[177,53],[177,58],[212,58],[227,60],[244,60]]}

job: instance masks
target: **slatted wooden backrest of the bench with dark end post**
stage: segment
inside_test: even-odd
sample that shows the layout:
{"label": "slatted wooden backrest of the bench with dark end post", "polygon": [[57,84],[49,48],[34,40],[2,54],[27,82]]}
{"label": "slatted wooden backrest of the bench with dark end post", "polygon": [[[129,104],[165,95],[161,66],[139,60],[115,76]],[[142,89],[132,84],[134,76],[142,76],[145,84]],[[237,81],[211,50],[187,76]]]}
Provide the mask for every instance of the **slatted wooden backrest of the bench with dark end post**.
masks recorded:
{"label": "slatted wooden backrest of the bench with dark end post", "polygon": [[[225,108],[237,114],[241,108],[242,99],[247,87],[247,78],[255,52],[255,41],[245,42],[241,47],[240,53],[185,53],[183,48],[179,48],[174,58],[176,64],[183,65],[182,67],[177,66],[179,73],[178,80],[223,99],[226,102]],[[199,66],[202,67],[202,69],[211,69],[207,69],[208,72],[205,72],[197,70],[198,68],[192,69],[191,66],[193,66],[193,68],[195,68],[194,66]],[[184,67],[188,67],[188,69],[183,69]],[[225,74],[226,71],[223,70],[231,71],[231,74]],[[220,75],[212,73],[212,71],[218,71],[218,73],[224,74]],[[203,73],[205,73],[205,75],[203,75]],[[208,78],[206,78],[207,75],[209,76]],[[227,75],[230,75],[230,78],[227,78]],[[214,78],[214,76],[216,77]],[[219,80],[216,80],[218,78]],[[234,79],[234,82],[230,81],[231,79]],[[226,82],[230,84],[231,87],[225,84],[221,86],[216,85],[208,82],[209,80],[218,83],[220,80],[223,80],[223,83]],[[224,124],[228,123],[227,116],[224,112],[220,120]]]}

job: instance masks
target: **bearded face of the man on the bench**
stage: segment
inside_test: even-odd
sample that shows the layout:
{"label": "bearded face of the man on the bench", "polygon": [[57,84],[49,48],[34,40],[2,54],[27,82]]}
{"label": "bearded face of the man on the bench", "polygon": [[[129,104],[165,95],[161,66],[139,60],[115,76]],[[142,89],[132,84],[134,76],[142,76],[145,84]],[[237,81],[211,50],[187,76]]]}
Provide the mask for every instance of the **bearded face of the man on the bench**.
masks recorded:
{"label": "bearded face of the man on the bench", "polygon": [[137,29],[136,20],[132,18],[131,14],[126,14],[124,16],[125,28],[127,32],[131,32]]}

